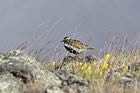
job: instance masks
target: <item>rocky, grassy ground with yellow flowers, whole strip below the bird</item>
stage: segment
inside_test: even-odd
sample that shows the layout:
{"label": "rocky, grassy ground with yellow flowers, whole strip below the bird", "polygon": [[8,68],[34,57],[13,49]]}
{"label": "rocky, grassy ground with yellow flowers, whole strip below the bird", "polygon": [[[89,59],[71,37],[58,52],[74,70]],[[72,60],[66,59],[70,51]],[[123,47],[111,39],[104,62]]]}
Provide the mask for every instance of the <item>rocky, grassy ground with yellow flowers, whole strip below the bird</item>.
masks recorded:
{"label": "rocky, grassy ground with yellow flowers, whole strip below the bird", "polygon": [[[12,81],[14,91],[23,93],[140,93],[140,48],[135,45],[132,49],[116,47],[120,46],[116,43],[99,56],[62,55],[62,60],[46,58],[46,63],[39,60],[43,49],[28,52],[20,46],[0,54],[0,91],[11,91]],[[3,89],[3,83],[7,88]]]}

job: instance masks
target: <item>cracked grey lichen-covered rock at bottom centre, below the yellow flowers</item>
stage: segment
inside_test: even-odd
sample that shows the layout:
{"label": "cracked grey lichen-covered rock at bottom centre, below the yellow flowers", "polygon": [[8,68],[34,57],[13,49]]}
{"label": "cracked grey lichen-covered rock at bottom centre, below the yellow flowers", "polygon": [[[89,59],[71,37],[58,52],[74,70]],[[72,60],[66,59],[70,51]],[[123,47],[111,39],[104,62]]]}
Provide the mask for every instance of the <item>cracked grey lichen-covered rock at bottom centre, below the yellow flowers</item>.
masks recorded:
{"label": "cracked grey lichen-covered rock at bottom centre, below the yellow flowers", "polygon": [[67,70],[56,72],[51,79],[52,84],[49,83],[46,93],[91,93],[89,82],[70,74]]}

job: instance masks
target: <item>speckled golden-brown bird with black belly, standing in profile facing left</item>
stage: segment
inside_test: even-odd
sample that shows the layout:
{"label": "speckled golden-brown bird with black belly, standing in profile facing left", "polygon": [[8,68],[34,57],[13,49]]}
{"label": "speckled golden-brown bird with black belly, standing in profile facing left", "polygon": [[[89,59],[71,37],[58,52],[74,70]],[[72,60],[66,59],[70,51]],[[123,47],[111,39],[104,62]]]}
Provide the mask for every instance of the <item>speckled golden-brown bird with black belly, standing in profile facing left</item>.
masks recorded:
{"label": "speckled golden-brown bird with black belly, standing in profile facing left", "polygon": [[80,54],[85,50],[94,49],[94,47],[89,47],[87,44],[84,44],[80,40],[71,38],[69,36],[64,37],[61,42],[63,42],[66,50],[72,54]]}

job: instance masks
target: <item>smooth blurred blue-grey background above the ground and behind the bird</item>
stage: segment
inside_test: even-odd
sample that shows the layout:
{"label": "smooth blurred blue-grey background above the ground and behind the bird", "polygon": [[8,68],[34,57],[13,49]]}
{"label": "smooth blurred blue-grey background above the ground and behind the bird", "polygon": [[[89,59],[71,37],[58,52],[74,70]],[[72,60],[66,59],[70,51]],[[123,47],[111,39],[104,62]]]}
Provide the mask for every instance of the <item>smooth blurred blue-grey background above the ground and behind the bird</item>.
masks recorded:
{"label": "smooth blurred blue-grey background above the ground and behind the bird", "polygon": [[0,51],[24,41],[55,49],[64,36],[99,50],[113,35],[135,41],[139,32],[140,0],[0,0]]}

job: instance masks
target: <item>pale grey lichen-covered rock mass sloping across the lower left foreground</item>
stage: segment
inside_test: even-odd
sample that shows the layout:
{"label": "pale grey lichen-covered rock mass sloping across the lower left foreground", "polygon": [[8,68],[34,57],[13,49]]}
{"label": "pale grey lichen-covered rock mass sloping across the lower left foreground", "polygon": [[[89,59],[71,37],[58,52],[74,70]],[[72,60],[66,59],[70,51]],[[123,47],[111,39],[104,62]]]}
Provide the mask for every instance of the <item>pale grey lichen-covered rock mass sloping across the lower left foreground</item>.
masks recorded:
{"label": "pale grey lichen-covered rock mass sloping across the lower left foreground", "polygon": [[0,93],[91,93],[88,82],[67,70],[49,72],[23,51],[0,54]]}

